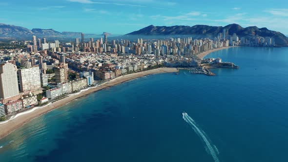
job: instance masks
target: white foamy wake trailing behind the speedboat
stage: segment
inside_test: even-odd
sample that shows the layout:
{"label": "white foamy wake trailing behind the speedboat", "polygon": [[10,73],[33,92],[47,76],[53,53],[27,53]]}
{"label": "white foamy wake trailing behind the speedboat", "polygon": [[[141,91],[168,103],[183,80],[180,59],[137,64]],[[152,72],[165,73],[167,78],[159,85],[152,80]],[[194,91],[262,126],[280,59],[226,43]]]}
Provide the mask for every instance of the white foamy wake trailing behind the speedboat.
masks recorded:
{"label": "white foamy wake trailing behind the speedboat", "polygon": [[191,125],[191,127],[194,129],[194,131],[196,132],[196,134],[202,138],[203,142],[205,142],[206,144],[206,150],[207,152],[212,156],[212,158],[214,159],[215,162],[219,162],[219,159],[217,157],[217,155],[219,154],[219,151],[217,149],[217,147],[213,144],[211,144],[208,136],[205,134],[205,132],[203,130],[201,130],[198,126],[197,123],[191,118],[189,117],[189,115],[187,113],[182,113],[183,115],[183,119],[189,124]]}

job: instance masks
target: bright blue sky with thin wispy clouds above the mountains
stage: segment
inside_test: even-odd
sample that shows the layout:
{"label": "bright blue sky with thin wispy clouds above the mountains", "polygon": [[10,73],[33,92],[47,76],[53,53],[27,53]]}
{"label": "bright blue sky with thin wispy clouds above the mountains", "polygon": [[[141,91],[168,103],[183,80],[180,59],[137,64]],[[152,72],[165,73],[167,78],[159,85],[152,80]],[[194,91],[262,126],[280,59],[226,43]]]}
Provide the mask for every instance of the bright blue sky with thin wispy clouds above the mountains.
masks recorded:
{"label": "bright blue sky with thin wispy clouds above the mountains", "polygon": [[288,35],[288,0],[0,0],[0,23],[117,35],[149,25],[237,23]]}

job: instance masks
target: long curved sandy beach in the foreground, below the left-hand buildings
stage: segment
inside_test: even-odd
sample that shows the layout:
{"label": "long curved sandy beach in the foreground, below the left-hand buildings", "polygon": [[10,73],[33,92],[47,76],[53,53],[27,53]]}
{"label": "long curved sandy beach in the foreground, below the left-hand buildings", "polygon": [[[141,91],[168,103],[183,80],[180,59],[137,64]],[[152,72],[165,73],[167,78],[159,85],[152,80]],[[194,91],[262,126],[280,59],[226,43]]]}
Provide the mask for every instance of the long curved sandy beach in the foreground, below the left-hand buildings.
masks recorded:
{"label": "long curved sandy beach in the foreground, below the left-hand buildings", "polygon": [[158,68],[158,69],[148,70],[148,71],[144,71],[144,72],[128,74],[128,75],[124,75],[124,76],[118,77],[116,79],[113,79],[111,81],[105,82],[105,83],[99,85],[98,87],[91,87],[91,88],[89,88],[85,91],[82,91],[80,93],[72,94],[69,97],[66,97],[66,98],[59,100],[59,101],[56,101],[56,102],[53,102],[52,104],[49,104],[43,108],[37,109],[37,110],[35,110],[31,113],[28,113],[28,114],[23,114],[23,115],[15,118],[13,120],[10,120],[6,123],[0,124],[0,139],[7,136],[8,134],[13,132],[17,128],[21,127],[26,122],[29,122],[29,121],[49,112],[51,110],[54,110],[58,107],[61,107],[70,101],[78,99],[78,98],[85,96],[87,94],[90,94],[92,92],[96,92],[96,91],[102,90],[104,88],[114,86],[114,85],[123,83],[125,81],[130,81],[132,79],[143,77],[146,75],[160,74],[160,73],[172,73],[172,72],[178,72],[178,70],[176,68]]}

